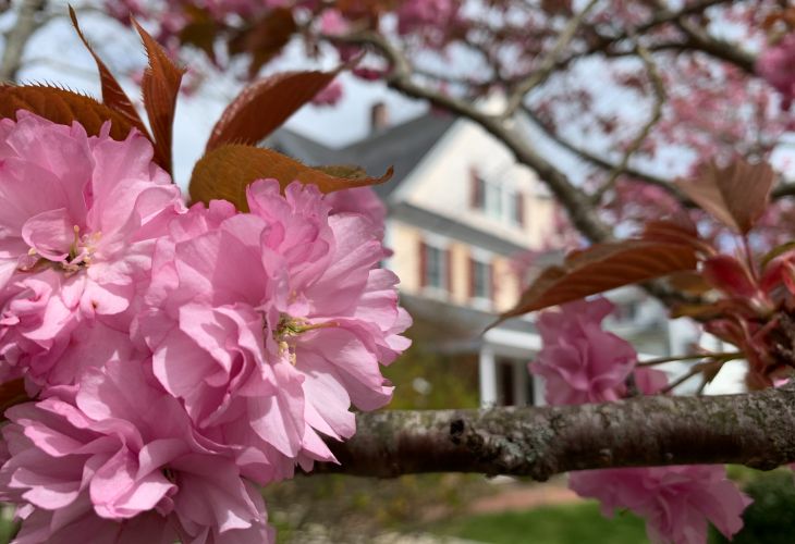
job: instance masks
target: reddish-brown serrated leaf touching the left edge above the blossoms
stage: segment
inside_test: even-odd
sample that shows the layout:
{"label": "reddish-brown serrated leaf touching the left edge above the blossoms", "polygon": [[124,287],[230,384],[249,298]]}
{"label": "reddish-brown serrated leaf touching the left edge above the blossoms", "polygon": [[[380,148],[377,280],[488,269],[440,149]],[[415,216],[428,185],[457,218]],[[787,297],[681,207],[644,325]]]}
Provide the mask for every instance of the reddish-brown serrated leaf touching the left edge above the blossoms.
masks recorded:
{"label": "reddish-brown serrated leaf touching the left edge above the blossoms", "polygon": [[0,85],[0,119],[16,119],[20,110],[62,125],[77,121],[93,136],[110,121],[110,137],[118,140],[126,138],[134,126],[122,113],[85,95],[57,87]]}

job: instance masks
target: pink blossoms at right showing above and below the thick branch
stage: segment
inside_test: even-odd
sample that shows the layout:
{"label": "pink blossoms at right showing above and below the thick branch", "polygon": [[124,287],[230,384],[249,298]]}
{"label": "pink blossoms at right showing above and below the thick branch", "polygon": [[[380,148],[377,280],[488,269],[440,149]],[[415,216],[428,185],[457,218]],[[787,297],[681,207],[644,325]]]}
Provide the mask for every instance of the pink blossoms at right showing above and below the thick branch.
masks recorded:
{"label": "pink blossoms at right showing above and below the thick branch", "polygon": [[[551,405],[614,401],[634,393],[662,394],[665,374],[637,366],[635,349],[602,330],[613,310],[604,298],[578,300],[538,320],[543,348],[529,364],[545,380]],[[622,468],[572,472],[570,487],[601,502],[602,512],[628,509],[645,518],[653,543],[701,544],[708,522],[727,537],[743,527],[750,498],[722,466]]]}

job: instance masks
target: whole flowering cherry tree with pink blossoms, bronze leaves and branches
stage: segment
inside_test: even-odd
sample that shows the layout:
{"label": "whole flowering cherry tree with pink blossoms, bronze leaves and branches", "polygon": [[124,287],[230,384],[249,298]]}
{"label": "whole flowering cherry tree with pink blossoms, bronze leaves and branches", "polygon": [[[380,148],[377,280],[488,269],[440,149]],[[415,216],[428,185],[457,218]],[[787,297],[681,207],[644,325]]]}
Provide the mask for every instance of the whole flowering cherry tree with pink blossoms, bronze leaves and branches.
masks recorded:
{"label": "whole flowering cherry tree with pink blossoms, bronze leaves and branches", "polygon": [[[221,67],[248,54],[241,76],[254,81],[217,122],[189,197],[171,183],[184,71],[136,20],[148,123],[74,12],[101,101],[0,86],[0,498],[17,507],[17,542],[270,542],[258,486],[298,467],[537,480],[572,471],[573,490],[608,515],[643,516],[652,541],[699,543],[708,521],[736,533],[749,504],[721,463],[795,461],[795,248],[788,225],[775,224],[793,191],[766,162],[791,126],[792,9],[123,4],[120,18],[159,22],[172,51],[199,47]],[[20,2],[5,78],[41,9]],[[736,26],[758,59],[715,37]],[[310,52],[331,48],[341,67],[255,78],[294,35]],[[460,48],[480,59],[473,73],[420,62]],[[647,100],[648,119],[606,112],[594,88],[568,84],[595,57],[611,85]],[[545,310],[529,371],[546,379],[549,406],[367,413],[392,394],[380,366],[408,347],[397,279],[378,267],[383,209],[368,188],[392,172],[310,168],[254,147],[304,103],[339,98],[342,70],[480,124],[539,173],[590,242],[500,317]],[[473,101],[494,90],[500,112]],[[528,120],[591,170],[577,181],[550,162],[522,132]],[[592,127],[602,150],[575,141]],[[672,169],[675,182],[647,170],[671,150],[686,162]],[[638,234],[616,240],[617,222]],[[601,327],[612,307],[591,297],[633,283],[736,350],[694,354],[669,383],[653,368],[663,360],[639,362]],[[732,359],[748,361],[748,394],[671,395]]]}

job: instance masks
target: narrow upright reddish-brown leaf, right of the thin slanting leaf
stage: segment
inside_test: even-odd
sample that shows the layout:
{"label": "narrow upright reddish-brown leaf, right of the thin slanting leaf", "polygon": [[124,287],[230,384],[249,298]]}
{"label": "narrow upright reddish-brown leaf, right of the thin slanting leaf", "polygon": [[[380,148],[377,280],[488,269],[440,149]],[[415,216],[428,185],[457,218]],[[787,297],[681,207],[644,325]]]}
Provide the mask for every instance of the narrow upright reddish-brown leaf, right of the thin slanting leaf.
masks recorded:
{"label": "narrow upright reddish-brown leaf, right of the thin slanting leaf", "polygon": [[133,25],[138,30],[149,58],[149,65],[144,72],[140,88],[146,114],[149,116],[149,126],[155,136],[155,162],[171,173],[174,110],[184,71],[176,67],[166,51],[142,28],[137,21],[133,20]]}

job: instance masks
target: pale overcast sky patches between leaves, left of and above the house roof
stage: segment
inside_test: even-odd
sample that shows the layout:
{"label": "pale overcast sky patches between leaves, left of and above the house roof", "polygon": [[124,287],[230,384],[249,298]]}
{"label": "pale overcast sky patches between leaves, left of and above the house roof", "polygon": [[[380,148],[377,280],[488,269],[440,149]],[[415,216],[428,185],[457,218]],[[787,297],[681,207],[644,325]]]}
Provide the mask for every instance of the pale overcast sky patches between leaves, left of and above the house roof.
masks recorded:
{"label": "pale overcast sky patches between leaves, left of and above the house roof", "polygon": [[[0,30],[2,30],[0,21]],[[89,40],[98,45],[106,61],[118,69],[142,66],[145,57],[139,41],[115,22],[86,15],[81,26]],[[20,74],[22,83],[53,83],[99,95],[98,76],[94,61],[84,50],[66,20],[54,21],[30,40],[25,53],[27,62]],[[301,55],[289,52],[279,62],[284,70],[301,69]],[[118,75],[118,74],[117,74]],[[131,97],[139,90],[131,81],[120,78]],[[364,137],[368,131],[369,109],[375,102],[386,102],[391,122],[402,122],[423,113],[426,106],[404,98],[380,83],[362,82],[348,74],[340,79],[345,88],[344,99],[333,108],[307,106],[286,125],[296,132],[331,147],[343,147]],[[211,77],[192,96],[181,96],[174,123],[174,176],[185,185],[193,164],[201,154],[207,136],[227,103],[234,97],[237,84],[231,78]]]}

